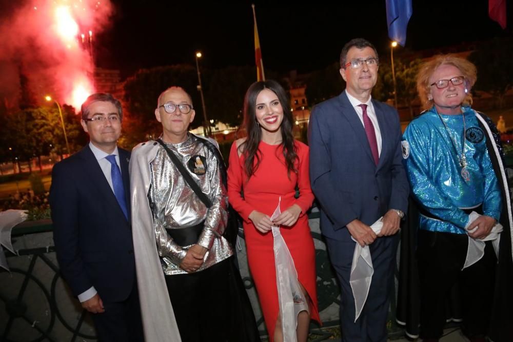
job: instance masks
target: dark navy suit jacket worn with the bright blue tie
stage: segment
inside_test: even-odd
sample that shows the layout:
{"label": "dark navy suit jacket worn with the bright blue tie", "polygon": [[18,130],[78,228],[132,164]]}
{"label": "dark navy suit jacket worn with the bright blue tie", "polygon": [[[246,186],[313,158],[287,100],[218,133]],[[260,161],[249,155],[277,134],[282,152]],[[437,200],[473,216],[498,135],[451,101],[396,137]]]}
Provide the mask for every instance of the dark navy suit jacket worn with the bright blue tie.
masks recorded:
{"label": "dark navy suit jacket worn with the bright blue tie", "polygon": [[[130,152],[118,151],[130,215]],[[73,294],[94,286],[104,301],[126,299],[135,281],[130,217],[89,146],[53,167],[50,207],[57,260]]]}

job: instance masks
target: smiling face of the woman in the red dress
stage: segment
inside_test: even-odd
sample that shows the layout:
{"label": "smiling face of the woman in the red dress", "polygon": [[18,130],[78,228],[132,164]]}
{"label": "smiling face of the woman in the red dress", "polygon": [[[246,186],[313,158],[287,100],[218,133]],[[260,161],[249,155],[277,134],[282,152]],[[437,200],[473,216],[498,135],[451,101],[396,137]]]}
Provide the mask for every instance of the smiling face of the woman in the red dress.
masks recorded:
{"label": "smiling face of the woman in the red dress", "polygon": [[281,132],[283,107],[278,95],[267,88],[262,90],[257,96],[255,116],[263,134]]}

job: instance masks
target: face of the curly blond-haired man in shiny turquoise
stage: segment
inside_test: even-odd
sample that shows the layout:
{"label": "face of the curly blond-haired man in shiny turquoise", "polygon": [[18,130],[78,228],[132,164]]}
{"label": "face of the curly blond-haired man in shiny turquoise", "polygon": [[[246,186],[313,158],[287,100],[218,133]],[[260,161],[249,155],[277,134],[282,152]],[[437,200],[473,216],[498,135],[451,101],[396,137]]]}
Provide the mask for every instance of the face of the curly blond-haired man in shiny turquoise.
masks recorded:
{"label": "face of the curly blond-haired man in shiny turquoise", "polygon": [[[462,76],[460,69],[453,65],[443,64],[435,69],[435,72],[429,77],[429,84],[458,76]],[[460,106],[466,96],[465,83],[455,86],[449,82],[448,86],[443,89],[438,89],[436,85],[433,85],[430,86],[429,95],[433,98],[433,103],[440,114],[459,114],[461,113]]]}

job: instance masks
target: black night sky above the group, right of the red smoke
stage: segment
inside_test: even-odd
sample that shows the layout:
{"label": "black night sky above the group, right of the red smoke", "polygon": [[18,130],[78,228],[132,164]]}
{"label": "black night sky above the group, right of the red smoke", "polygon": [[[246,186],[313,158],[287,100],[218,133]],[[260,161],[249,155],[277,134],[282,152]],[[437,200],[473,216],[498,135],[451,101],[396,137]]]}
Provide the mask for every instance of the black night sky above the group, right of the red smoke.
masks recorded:
{"label": "black night sky above the group, right of the red smoke", "polygon": [[[96,37],[96,64],[126,77],[140,68],[194,63],[205,68],[253,65],[251,1],[113,0],[111,27]],[[385,0],[256,1],[264,68],[309,72],[338,61],[344,43],[365,37],[388,56]],[[417,51],[511,35],[488,17],[488,1],[413,0],[406,48]],[[401,49],[401,48],[400,48]],[[400,51],[398,51],[400,53]]]}

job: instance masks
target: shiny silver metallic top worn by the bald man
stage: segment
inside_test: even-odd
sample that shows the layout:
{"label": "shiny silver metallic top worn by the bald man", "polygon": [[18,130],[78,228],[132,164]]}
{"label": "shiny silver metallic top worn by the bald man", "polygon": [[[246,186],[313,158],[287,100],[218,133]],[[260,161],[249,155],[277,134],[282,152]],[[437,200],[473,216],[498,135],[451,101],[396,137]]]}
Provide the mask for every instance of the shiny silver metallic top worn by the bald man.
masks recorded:
{"label": "shiny silver metallic top worn by the bald man", "polygon": [[157,251],[163,257],[165,274],[187,273],[179,265],[192,245],[177,245],[166,229],[188,229],[204,220],[204,228],[196,244],[208,251],[202,266],[196,271],[199,272],[233,254],[227,240],[221,236],[228,216],[226,189],[221,183],[218,160],[197,137],[188,134],[185,142],[166,145],[182,160],[183,165],[213,205],[207,208],[201,202],[173,165],[166,150],[156,145],[155,148],[158,150],[150,162],[151,186],[148,198],[153,203]]}

